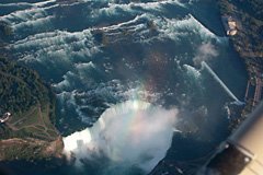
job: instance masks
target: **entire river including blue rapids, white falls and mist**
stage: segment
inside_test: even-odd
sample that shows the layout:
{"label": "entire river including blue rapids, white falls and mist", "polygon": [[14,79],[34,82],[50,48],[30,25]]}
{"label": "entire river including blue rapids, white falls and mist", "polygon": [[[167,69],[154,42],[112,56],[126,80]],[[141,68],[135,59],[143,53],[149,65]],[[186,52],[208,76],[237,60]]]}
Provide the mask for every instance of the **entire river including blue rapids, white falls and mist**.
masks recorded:
{"label": "entire river including blue rapids, white falls and mist", "polygon": [[[149,172],[165,153],[164,160],[182,161],[214,149],[228,135],[221,112],[229,98],[193,63],[216,58],[213,63],[226,66],[230,74],[224,80],[236,81],[235,92],[242,92],[244,69],[221,37],[213,1],[1,0],[0,21],[13,32],[1,39],[14,59],[50,83],[58,102],[57,127],[64,136],[72,133],[64,138],[65,153],[79,165],[44,168],[43,162],[34,162],[27,170],[21,163],[12,170],[127,175],[130,166]],[[180,115],[163,106],[178,106]],[[175,128],[170,116],[176,116]]]}

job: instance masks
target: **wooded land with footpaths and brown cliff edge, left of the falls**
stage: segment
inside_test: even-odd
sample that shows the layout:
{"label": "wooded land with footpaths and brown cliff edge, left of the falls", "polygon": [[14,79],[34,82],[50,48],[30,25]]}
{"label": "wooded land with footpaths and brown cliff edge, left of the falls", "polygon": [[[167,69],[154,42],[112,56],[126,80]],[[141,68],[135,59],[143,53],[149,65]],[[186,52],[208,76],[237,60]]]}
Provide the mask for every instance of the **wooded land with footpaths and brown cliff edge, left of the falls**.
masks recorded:
{"label": "wooded land with footpaths and brown cliff edge, left of the falls", "polygon": [[0,161],[61,158],[55,95],[36,71],[0,57]]}

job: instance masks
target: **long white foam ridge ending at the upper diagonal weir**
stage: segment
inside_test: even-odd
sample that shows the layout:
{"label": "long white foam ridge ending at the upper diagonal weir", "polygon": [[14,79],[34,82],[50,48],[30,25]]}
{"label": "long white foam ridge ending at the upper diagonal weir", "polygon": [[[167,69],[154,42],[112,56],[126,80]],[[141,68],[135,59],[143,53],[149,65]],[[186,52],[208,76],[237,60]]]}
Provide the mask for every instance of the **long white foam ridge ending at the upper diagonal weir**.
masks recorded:
{"label": "long white foam ridge ending at the upper diagonal weir", "polygon": [[[158,35],[150,35],[150,30],[147,22],[152,22],[155,30],[158,31]],[[133,40],[138,43],[149,43],[150,40],[158,39],[172,39],[187,37],[188,35],[197,35],[204,42],[215,39],[218,43],[226,40],[224,37],[215,35],[207,30],[202,23],[199,23],[193,15],[188,14],[184,19],[167,19],[145,13],[137,15],[135,19],[123,22],[117,25],[102,27],[106,32],[106,35],[113,37],[115,35],[118,42],[122,39],[123,32],[134,35]],[[136,40],[137,38],[137,40]],[[115,42],[113,42],[115,43]]]}

